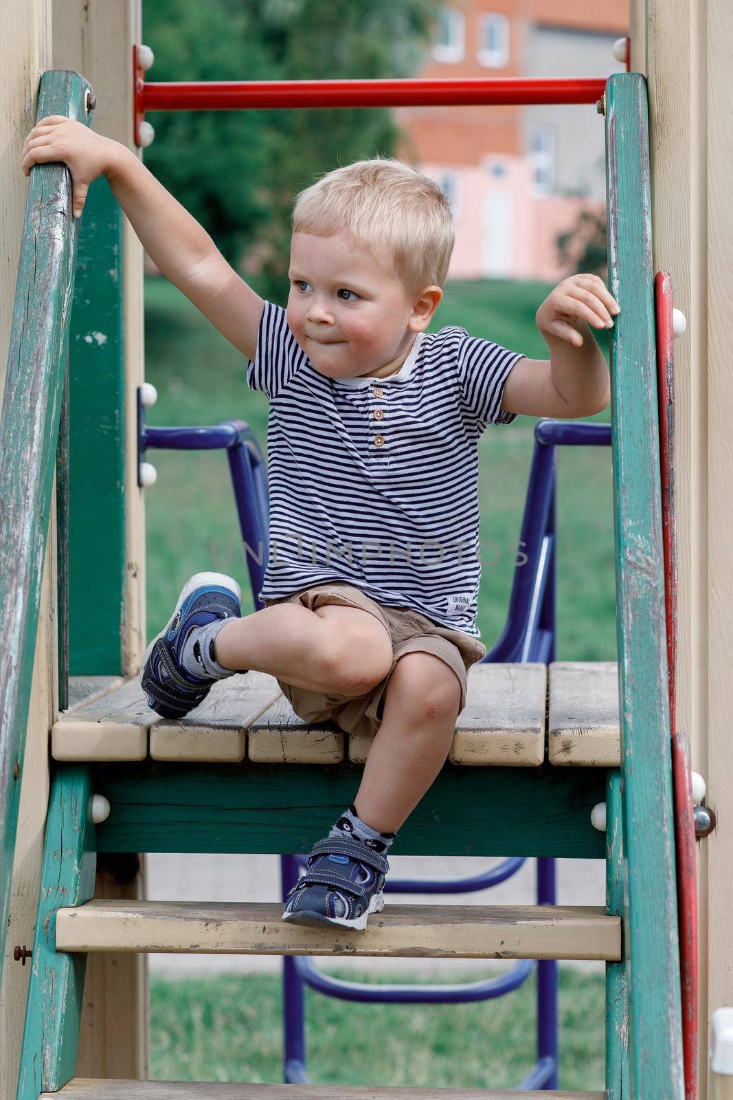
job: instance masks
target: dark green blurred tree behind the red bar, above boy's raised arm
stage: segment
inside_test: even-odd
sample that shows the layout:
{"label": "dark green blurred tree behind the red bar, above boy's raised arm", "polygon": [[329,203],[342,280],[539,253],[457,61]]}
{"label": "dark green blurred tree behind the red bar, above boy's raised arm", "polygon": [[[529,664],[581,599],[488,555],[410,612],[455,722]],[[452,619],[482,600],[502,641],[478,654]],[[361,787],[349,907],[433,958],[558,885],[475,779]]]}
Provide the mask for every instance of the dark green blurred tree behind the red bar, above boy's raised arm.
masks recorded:
{"label": "dark green blurred tree behind the red bar, above boy's raised arm", "polygon": [[[154,80],[375,79],[418,73],[441,0],[155,0],[145,6]],[[387,108],[152,116],[151,170],[271,300],[287,296],[289,215],[324,172],[395,155]]]}

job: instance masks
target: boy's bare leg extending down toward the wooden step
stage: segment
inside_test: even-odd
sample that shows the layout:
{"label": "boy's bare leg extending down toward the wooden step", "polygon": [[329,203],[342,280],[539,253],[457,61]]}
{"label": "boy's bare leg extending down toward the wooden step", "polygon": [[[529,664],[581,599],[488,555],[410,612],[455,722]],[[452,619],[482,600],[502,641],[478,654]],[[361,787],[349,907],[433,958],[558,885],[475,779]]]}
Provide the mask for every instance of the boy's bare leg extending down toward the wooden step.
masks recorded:
{"label": "boy's bare leg extending down toward the wooden step", "polygon": [[366,825],[397,833],[404,824],[445,763],[459,706],[458,678],[440,657],[399,659],[354,801]]}

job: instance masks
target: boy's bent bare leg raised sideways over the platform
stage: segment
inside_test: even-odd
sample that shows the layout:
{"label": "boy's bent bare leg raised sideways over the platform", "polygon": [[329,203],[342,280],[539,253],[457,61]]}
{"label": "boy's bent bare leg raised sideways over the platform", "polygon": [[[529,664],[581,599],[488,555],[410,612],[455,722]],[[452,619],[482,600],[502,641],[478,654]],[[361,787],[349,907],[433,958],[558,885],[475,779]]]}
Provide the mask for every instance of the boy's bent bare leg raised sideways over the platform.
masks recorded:
{"label": "boy's bent bare leg raised sideways over the platform", "polygon": [[295,688],[358,696],[389,672],[392,642],[369,612],[284,603],[230,619],[216,635],[213,656],[225,669],[253,669]]}

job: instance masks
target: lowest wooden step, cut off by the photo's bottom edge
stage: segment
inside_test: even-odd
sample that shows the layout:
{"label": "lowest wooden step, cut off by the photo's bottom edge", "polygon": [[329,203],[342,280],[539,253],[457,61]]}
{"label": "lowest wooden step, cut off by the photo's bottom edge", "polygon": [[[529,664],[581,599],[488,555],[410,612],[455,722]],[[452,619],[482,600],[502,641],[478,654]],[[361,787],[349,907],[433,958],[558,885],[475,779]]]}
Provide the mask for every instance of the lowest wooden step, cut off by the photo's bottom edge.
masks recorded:
{"label": "lowest wooden step, cut off by the photo's bottom edge", "polygon": [[[517,1100],[512,1089],[357,1088],[353,1085],[220,1085],[213,1081],[119,1081],[75,1077],[40,1100]],[[603,1100],[604,1092],[530,1092],[522,1100]]]}

